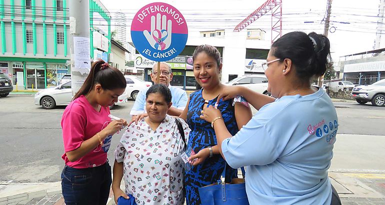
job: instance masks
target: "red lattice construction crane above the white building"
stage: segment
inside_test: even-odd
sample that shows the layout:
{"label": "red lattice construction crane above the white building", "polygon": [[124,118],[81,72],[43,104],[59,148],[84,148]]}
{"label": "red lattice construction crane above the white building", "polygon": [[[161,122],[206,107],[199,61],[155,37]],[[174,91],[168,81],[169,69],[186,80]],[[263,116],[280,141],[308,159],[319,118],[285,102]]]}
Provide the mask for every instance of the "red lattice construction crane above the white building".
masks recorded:
{"label": "red lattice construction crane above the white building", "polygon": [[282,36],[282,0],[266,0],[250,15],[243,19],[234,28],[234,31],[240,31],[247,25],[271,10],[271,43]]}

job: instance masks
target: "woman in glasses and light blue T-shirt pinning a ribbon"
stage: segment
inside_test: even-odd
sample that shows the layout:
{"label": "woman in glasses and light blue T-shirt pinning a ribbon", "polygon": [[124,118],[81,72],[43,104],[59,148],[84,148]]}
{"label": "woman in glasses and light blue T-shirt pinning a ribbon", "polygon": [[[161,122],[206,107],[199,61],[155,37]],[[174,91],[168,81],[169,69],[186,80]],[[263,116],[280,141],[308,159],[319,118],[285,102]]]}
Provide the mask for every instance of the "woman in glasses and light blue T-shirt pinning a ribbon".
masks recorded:
{"label": "woman in glasses and light blue T-shirt pinning a ribbon", "polygon": [[[242,86],[226,87],[218,97],[242,95],[258,111],[234,136],[212,106],[201,118],[212,122],[227,163],[245,166],[250,204],[340,204],[332,201],[327,169],[333,156],[338,119],[329,96],[310,86],[330,67],[327,37],[311,32],[278,38],[262,66],[269,97]],[[199,157],[193,156],[192,158]]]}

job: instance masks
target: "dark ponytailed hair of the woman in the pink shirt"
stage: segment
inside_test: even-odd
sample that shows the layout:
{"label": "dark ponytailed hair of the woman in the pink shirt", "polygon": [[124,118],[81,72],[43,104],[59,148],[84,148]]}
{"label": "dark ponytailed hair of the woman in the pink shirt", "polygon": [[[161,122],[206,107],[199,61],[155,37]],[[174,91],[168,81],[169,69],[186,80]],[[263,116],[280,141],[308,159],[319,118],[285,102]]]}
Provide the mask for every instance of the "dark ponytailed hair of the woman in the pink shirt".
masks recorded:
{"label": "dark ponytailed hair of the woman in the pink shirt", "polygon": [[111,67],[103,60],[98,59],[91,65],[91,70],[85,78],[83,85],[73,96],[73,99],[90,92],[93,86],[99,83],[103,89],[125,88],[124,75],[116,67]]}

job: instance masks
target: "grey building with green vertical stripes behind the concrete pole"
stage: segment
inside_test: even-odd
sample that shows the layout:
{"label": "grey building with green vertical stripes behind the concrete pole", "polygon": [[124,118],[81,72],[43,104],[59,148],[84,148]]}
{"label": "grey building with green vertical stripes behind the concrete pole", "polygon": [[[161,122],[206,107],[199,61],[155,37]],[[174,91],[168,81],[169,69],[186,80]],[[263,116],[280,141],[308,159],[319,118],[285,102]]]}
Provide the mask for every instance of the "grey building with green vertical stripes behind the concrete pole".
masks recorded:
{"label": "grey building with green vertical stripes behind the concrete pole", "polygon": [[[70,73],[69,0],[0,0],[0,72],[8,75],[17,89],[43,89],[58,84]],[[93,35],[99,29],[94,16],[107,26],[103,34],[111,47],[110,15],[98,0],[89,0],[90,57],[94,56]]]}

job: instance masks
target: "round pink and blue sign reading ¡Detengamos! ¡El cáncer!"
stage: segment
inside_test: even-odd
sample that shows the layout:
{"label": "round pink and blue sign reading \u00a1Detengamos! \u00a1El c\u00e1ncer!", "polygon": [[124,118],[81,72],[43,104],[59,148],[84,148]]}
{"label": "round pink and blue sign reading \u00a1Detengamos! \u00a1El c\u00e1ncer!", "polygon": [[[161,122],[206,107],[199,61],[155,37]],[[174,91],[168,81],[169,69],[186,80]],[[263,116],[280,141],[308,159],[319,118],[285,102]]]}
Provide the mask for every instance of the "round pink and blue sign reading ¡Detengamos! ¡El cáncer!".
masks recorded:
{"label": "round pink and blue sign reading \u00a1Detengamos! \u00a1El c\u00e1ncer!", "polygon": [[132,19],[132,42],[150,60],[167,61],[176,57],[186,45],[187,35],[183,15],[167,3],[147,4]]}

